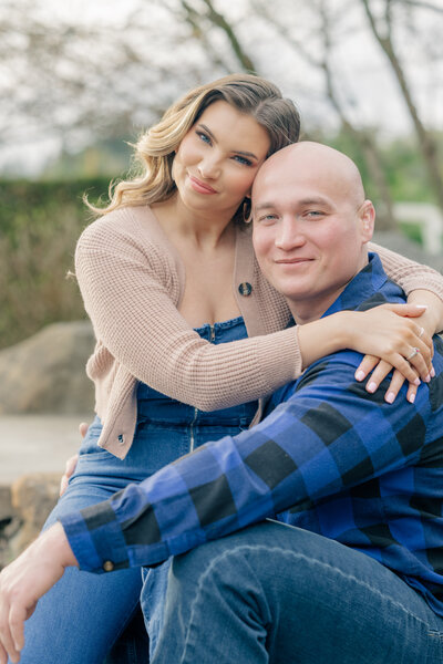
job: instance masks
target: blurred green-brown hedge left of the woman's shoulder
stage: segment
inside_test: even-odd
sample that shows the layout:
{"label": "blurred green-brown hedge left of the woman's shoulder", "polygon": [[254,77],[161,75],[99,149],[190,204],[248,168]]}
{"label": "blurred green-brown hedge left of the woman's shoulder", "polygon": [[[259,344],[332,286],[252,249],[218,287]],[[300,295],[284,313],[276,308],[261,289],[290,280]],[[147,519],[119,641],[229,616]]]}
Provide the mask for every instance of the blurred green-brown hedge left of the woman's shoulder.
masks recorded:
{"label": "blurred green-brown hedge left of the woman's shoulder", "polygon": [[0,347],[85,315],[75,279],[66,274],[91,220],[82,196],[95,201],[107,185],[109,178],[0,183]]}

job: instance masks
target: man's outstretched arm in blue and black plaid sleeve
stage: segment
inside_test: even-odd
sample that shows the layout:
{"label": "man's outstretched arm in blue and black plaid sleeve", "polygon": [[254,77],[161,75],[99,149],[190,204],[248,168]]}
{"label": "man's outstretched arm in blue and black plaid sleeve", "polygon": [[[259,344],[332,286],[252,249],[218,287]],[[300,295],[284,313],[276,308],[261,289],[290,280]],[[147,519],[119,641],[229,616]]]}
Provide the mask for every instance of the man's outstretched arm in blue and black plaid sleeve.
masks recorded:
{"label": "man's outstretched arm in blue and black plaid sleeve", "polygon": [[359,359],[342,352],[316,363],[253,429],[63,517],[81,569],[155,564],[413,463],[425,445],[427,387],[414,405],[387,404],[354,381]]}

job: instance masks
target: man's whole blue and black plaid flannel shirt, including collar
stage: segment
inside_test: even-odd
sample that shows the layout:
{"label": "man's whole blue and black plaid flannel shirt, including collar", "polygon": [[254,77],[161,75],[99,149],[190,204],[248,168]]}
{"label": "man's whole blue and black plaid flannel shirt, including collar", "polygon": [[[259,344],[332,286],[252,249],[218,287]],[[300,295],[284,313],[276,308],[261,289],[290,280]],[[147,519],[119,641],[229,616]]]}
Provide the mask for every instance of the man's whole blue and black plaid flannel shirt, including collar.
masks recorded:
{"label": "man's whole blue and black plaid flannel shirt, including collar", "polygon": [[[371,255],[324,315],[404,300]],[[419,387],[414,404],[406,386],[393,405],[383,386],[369,394],[354,380],[361,355],[334,353],[275,393],[259,425],[61,518],[80,568],[154,566],[271,517],[371,556],[443,615],[437,336],[434,346],[436,376]]]}

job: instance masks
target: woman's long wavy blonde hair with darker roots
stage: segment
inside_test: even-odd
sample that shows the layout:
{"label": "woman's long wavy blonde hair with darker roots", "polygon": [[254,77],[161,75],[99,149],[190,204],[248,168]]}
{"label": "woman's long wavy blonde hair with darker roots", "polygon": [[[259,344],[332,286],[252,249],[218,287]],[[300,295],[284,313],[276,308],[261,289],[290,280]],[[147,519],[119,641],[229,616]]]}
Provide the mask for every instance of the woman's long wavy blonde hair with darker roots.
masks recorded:
{"label": "woman's long wavy blonde hair with darker roots", "polygon": [[[104,215],[126,206],[151,205],[169,198],[176,191],[172,177],[175,151],[185,135],[210,104],[225,101],[241,113],[251,115],[268,133],[267,156],[291,143],[300,133],[300,116],[295,104],[281,96],[280,90],[266,79],[251,74],[230,74],[190,90],[142,135],[135,147],[141,175],[110,185],[110,204],[97,208],[85,198],[89,208]],[[235,215],[243,218],[244,201]]]}

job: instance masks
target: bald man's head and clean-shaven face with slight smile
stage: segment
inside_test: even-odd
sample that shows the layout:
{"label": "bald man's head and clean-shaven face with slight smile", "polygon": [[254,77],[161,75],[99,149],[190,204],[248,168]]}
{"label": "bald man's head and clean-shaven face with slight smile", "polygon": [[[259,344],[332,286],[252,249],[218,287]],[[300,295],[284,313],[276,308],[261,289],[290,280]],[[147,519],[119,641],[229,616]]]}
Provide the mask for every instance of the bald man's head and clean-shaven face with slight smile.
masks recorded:
{"label": "bald man's head and clean-shaven face with slight smile", "polygon": [[352,190],[356,173],[348,174],[347,157],[328,151],[316,144],[285,148],[254,185],[257,259],[298,322],[319,318],[368,261],[372,204],[362,188]]}

